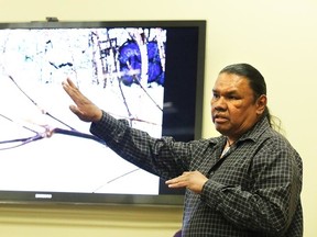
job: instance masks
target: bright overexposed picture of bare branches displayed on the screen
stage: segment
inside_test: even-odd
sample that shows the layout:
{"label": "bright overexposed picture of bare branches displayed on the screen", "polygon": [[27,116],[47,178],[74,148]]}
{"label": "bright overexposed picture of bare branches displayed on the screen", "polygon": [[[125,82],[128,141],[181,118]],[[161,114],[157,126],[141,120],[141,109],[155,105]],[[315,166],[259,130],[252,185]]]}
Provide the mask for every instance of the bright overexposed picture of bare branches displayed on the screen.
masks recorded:
{"label": "bright overexposed picture of bare branches displayed on the screen", "polygon": [[118,157],[69,111],[62,81],[69,77],[99,108],[160,137],[166,30],[0,34],[0,190],[157,194],[157,177]]}

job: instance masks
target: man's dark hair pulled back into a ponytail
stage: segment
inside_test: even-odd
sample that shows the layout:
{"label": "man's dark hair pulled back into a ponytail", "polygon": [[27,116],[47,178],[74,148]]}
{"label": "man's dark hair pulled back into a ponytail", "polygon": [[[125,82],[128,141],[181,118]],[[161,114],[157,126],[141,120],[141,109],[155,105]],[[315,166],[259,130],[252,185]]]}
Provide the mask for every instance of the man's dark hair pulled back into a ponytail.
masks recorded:
{"label": "man's dark hair pulled back into a ponytail", "polygon": [[[249,64],[229,65],[225,67],[219,74],[233,74],[247,78],[250,88],[254,93],[254,101],[258,100],[262,94],[266,95],[266,83],[264,77],[256,68]],[[265,111],[262,116],[267,117],[271,127],[275,129],[281,129],[280,122],[278,125],[275,122],[273,123],[273,116],[271,115],[267,105],[265,106]]]}

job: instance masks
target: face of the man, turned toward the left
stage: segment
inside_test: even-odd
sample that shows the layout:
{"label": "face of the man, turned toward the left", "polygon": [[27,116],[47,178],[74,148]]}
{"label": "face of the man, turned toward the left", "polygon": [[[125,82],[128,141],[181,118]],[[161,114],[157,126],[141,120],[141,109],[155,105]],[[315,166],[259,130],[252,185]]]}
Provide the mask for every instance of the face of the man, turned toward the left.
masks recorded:
{"label": "face of the man, turned toward the left", "polygon": [[212,94],[212,122],[219,133],[232,140],[256,123],[266,105],[265,95],[254,101],[248,79],[233,74],[220,74]]}

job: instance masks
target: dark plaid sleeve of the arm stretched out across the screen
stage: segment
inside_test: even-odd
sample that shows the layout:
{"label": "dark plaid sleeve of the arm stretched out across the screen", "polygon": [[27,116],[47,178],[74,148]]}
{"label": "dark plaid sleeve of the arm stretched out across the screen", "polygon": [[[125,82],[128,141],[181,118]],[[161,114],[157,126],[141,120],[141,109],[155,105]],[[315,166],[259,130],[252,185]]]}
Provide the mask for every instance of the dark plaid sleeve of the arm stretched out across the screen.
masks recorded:
{"label": "dark plaid sleeve of the arm stretched out across the screen", "polygon": [[163,179],[179,176],[188,167],[189,145],[172,137],[153,138],[106,112],[98,123],[91,124],[90,132],[123,159]]}

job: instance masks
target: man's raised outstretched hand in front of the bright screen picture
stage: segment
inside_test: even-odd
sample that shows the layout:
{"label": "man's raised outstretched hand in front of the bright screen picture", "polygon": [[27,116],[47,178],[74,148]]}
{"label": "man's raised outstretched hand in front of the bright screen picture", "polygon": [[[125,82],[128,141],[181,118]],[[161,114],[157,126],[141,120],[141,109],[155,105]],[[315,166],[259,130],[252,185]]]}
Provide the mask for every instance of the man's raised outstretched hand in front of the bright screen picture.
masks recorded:
{"label": "man's raised outstretched hand in front of the bright screen picture", "polygon": [[63,81],[62,86],[76,104],[69,105],[69,109],[79,120],[84,122],[98,122],[101,120],[102,111],[86,98],[69,78]]}

